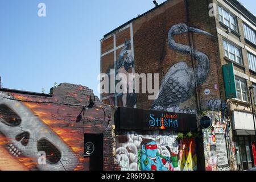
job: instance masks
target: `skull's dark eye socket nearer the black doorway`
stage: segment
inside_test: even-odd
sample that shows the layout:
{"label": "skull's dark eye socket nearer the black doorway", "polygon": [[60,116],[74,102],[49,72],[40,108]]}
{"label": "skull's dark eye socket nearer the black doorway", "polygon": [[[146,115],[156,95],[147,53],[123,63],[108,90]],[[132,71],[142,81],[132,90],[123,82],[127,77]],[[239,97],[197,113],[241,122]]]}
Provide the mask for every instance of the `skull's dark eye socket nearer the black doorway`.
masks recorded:
{"label": "skull's dark eye socket nearer the black doorway", "polygon": [[46,152],[46,160],[50,164],[56,164],[61,159],[60,151],[46,139],[39,140],[38,151]]}

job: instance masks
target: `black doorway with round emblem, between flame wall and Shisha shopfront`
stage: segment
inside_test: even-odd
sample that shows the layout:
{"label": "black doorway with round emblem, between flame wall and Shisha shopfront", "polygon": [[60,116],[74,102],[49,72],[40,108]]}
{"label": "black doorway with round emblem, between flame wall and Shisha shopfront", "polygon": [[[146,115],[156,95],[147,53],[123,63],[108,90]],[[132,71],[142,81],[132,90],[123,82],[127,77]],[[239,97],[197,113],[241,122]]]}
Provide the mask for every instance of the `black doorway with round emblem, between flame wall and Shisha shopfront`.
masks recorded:
{"label": "black doorway with round emblem, between flame wall and Shisha shopfront", "polygon": [[90,171],[103,171],[103,134],[84,134],[84,158]]}

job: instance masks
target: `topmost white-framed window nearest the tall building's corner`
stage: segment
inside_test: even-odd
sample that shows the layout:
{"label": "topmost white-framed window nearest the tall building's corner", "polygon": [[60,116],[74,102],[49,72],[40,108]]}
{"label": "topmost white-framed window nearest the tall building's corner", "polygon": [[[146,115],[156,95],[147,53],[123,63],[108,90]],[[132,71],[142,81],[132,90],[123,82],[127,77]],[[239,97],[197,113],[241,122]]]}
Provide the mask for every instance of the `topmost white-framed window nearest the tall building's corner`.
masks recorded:
{"label": "topmost white-framed window nearest the tall building's corner", "polygon": [[218,6],[218,19],[232,30],[238,31],[236,16],[232,15],[221,6]]}

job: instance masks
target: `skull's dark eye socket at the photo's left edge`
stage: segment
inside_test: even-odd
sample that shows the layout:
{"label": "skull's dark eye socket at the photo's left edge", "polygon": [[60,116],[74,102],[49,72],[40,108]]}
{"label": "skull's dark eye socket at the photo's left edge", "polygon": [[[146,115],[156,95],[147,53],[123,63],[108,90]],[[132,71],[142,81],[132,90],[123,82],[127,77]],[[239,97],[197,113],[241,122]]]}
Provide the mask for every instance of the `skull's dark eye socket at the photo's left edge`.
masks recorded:
{"label": "skull's dark eye socket at the photo's left edge", "polygon": [[22,119],[16,114],[10,107],[1,104],[0,105],[0,121],[8,126],[19,126]]}

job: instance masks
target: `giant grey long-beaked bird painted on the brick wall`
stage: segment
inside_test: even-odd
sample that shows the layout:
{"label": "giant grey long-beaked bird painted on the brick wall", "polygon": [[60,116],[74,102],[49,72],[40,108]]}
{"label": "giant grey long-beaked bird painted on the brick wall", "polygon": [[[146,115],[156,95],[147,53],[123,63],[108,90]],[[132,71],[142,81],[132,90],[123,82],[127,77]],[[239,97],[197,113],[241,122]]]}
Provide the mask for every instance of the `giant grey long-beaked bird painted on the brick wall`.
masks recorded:
{"label": "giant grey long-beaked bird painted on the brick wall", "polygon": [[208,32],[197,28],[188,27],[187,24],[175,24],[168,32],[168,44],[174,51],[192,55],[197,61],[195,73],[189,68],[185,61],[173,65],[166,73],[159,89],[158,97],[151,105],[151,109],[163,107],[163,110],[171,106],[187,101],[195,92],[196,86],[204,83],[209,75],[209,58],[202,52],[199,52],[189,46],[176,43],[174,35],[184,34],[186,32],[197,32],[200,34],[212,36]]}

